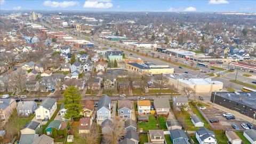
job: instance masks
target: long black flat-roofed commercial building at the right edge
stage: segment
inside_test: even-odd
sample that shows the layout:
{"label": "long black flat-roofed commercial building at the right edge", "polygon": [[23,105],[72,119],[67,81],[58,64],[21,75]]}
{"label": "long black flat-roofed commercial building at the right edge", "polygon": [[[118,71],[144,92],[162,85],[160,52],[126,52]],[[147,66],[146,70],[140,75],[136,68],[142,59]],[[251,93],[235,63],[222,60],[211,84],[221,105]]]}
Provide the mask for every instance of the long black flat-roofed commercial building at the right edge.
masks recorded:
{"label": "long black flat-roofed commercial building at the right edge", "polygon": [[253,118],[256,92],[212,92],[211,102]]}

